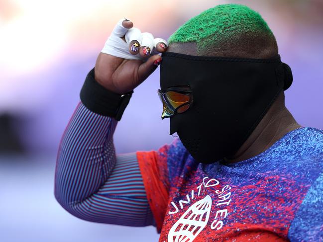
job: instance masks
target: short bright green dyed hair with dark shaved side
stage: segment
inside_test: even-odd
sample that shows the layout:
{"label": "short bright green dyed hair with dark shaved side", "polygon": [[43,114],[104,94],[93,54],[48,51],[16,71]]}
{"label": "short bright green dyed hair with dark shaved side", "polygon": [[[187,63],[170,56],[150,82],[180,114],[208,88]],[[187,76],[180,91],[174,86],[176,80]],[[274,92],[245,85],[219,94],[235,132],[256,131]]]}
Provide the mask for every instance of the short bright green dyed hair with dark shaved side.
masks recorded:
{"label": "short bright green dyed hair with dark shaved side", "polygon": [[168,42],[196,42],[199,54],[233,51],[254,56],[260,51],[270,56],[278,53],[276,39],[261,15],[240,4],[217,5],[200,13],[179,27]]}

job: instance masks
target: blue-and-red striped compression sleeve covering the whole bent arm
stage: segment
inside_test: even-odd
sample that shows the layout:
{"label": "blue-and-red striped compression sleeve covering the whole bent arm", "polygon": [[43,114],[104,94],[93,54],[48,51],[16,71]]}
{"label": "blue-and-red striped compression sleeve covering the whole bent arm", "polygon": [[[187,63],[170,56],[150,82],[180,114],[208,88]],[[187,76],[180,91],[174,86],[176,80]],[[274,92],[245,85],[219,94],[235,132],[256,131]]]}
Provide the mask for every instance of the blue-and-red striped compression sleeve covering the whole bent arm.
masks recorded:
{"label": "blue-and-red striped compression sleeve covering the whole bent arm", "polygon": [[78,104],[59,146],[55,197],[84,220],[153,225],[136,154],[115,155],[116,124],[113,118]]}

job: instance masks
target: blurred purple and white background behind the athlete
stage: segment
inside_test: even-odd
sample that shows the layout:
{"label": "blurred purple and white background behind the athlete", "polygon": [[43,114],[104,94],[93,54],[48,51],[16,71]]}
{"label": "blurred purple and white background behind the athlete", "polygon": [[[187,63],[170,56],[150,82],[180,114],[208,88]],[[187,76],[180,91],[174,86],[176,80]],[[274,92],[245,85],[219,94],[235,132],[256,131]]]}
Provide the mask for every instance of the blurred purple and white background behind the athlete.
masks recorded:
{"label": "blurred purple and white background behind the athlete", "polygon": [[[0,0],[0,241],[157,241],[153,227],[82,221],[53,194],[55,156],[111,29],[121,17],[167,39],[189,18],[220,3],[260,12],[293,71],[286,105],[302,126],[323,129],[322,0]],[[119,122],[118,153],[172,141],[156,94],[159,69],[135,89]]]}

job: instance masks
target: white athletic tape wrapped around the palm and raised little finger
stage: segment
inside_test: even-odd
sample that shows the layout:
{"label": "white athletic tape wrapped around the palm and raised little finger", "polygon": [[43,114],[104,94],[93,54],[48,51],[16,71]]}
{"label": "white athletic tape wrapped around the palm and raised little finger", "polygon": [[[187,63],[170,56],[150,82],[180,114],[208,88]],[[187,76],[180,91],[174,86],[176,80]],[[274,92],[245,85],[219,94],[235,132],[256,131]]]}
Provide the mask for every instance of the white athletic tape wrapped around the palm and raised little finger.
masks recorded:
{"label": "white athletic tape wrapped around the palm and raised little finger", "polygon": [[101,52],[128,60],[144,60],[139,54],[131,55],[128,43],[120,38],[129,30],[122,26],[123,20],[124,18],[118,21]]}

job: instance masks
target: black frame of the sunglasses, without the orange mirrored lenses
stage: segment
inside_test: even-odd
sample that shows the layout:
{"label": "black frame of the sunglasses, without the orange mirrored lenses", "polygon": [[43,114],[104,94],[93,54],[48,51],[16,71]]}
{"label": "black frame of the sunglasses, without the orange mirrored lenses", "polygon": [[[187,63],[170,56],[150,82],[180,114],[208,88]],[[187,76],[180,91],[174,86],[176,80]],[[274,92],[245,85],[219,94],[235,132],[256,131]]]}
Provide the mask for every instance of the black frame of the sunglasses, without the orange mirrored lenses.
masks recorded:
{"label": "black frame of the sunglasses, without the orange mirrored lenses", "polygon": [[[181,94],[185,94],[185,95],[188,95],[189,97],[190,97],[190,100],[189,101],[187,101],[187,102],[185,102],[185,103],[183,103],[183,104],[181,104],[180,106],[178,106],[177,108],[173,108],[173,106],[170,104],[170,102],[168,101],[168,98],[166,97],[166,93],[168,92],[168,91],[175,91],[175,92],[178,92],[178,93],[181,93]],[[176,115],[178,112],[177,112],[177,110],[179,109],[179,108],[181,108],[181,107],[183,107],[183,106],[185,106],[185,105],[189,105],[189,108],[192,106],[192,104],[193,104],[193,91],[192,91],[192,89],[190,88],[190,86],[188,86],[187,88],[186,87],[169,87],[169,88],[166,88],[166,89],[164,89],[164,90],[161,90],[161,89],[158,89],[158,91],[157,91],[157,93],[158,93],[158,96],[159,97],[161,97],[163,100],[164,100],[164,102],[165,102],[165,104],[167,105],[167,107],[171,110],[171,111],[173,111],[173,114],[172,115],[170,115],[170,116],[165,116],[165,117],[162,117],[162,119],[164,119],[164,118],[170,118],[170,117],[173,117],[174,115]],[[164,104],[163,104],[164,105]],[[189,109],[188,108],[188,109]],[[187,110],[188,110],[187,109]],[[185,110],[184,112],[186,112],[187,110]],[[184,112],[181,112],[181,113],[184,113]]]}

